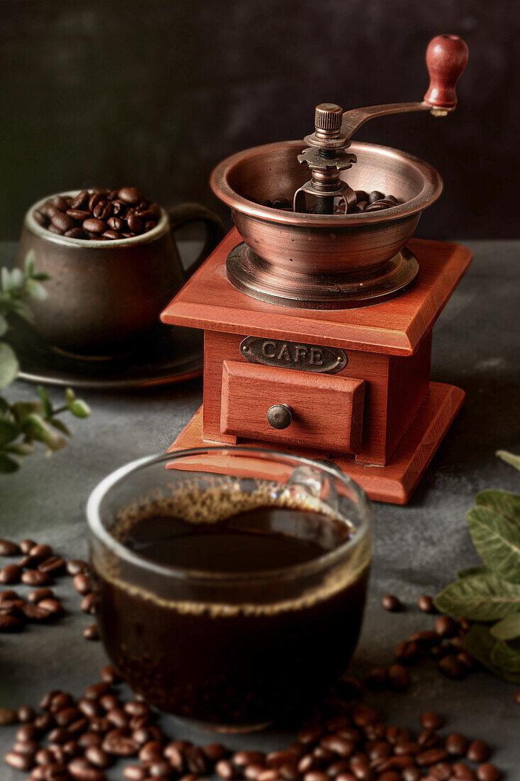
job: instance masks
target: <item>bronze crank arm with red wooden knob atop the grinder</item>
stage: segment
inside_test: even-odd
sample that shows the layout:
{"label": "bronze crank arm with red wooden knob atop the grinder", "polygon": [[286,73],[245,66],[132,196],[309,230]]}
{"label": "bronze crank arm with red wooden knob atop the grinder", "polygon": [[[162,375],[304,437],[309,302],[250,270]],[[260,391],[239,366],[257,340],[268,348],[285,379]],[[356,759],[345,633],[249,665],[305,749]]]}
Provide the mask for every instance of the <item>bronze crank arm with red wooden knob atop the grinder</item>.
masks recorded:
{"label": "bronze crank arm with red wooden knob atop the grinder", "polygon": [[[403,114],[411,111],[429,111],[434,116],[446,116],[457,105],[455,84],[468,62],[468,47],[458,35],[437,35],[426,50],[426,66],[429,71],[429,88],[422,102],[386,103],[368,105],[362,109],[351,109],[343,114],[341,128],[336,134],[315,133],[305,141],[310,146],[340,148],[365,122],[377,116]],[[335,107],[339,109],[338,107]],[[341,109],[339,109],[340,111]]]}

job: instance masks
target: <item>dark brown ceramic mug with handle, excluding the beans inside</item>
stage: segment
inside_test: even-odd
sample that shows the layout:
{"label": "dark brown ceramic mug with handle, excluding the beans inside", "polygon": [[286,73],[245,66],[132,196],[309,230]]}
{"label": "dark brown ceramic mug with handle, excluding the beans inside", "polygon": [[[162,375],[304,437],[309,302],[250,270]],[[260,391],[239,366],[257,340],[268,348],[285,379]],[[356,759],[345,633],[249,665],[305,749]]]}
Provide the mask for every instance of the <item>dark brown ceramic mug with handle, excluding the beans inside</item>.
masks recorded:
{"label": "dark brown ceramic mug with handle, excluding the beans inside", "polygon": [[[77,195],[79,191],[59,193]],[[115,241],[89,241],[52,234],[37,224],[32,205],[23,220],[16,265],[34,250],[45,282],[45,301],[30,301],[34,331],[53,348],[88,357],[121,355],[137,348],[158,324],[162,309],[223,238],[219,217],[196,203],[174,206],[152,230]],[[201,222],[201,254],[183,269],[173,236],[180,226]]]}

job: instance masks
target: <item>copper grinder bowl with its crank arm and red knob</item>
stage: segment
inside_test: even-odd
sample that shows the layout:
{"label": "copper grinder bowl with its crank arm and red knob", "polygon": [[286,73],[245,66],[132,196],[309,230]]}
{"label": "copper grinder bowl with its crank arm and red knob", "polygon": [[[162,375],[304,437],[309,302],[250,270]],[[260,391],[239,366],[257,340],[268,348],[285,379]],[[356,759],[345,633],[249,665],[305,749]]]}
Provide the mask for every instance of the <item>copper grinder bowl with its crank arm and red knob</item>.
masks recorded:
{"label": "copper grinder bowl with its crank arm and red knob", "polygon": [[[376,116],[446,116],[457,104],[454,87],[467,59],[461,38],[437,36],[426,52],[430,85],[422,102],[348,112],[321,104],[305,141],[265,144],[223,160],[212,189],[230,206],[244,240],[227,257],[231,284],[262,301],[317,309],[372,305],[408,290],[418,262],[406,244],[423,209],[440,196],[442,180],[427,162],[352,143],[351,136]],[[354,191],[360,190],[399,202],[357,213]],[[275,200],[288,208],[264,205]]]}

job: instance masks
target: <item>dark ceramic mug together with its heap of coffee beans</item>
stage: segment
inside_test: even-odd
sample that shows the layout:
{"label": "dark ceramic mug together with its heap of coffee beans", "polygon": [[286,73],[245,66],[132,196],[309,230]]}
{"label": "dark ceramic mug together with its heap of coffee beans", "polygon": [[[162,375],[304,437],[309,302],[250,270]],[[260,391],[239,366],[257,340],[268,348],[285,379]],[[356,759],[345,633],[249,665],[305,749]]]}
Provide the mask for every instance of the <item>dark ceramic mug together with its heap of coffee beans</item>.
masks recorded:
{"label": "dark ceramic mug together with its heap of coffee beans", "polygon": [[[205,245],[184,269],[174,234],[194,222],[205,226]],[[50,276],[45,301],[30,300],[31,327],[73,355],[130,353],[223,233],[210,209],[186,203],[165,210],[137,187],[43,198],[27,211],[16,259],[23,268],[34,251],[37,271]]]}

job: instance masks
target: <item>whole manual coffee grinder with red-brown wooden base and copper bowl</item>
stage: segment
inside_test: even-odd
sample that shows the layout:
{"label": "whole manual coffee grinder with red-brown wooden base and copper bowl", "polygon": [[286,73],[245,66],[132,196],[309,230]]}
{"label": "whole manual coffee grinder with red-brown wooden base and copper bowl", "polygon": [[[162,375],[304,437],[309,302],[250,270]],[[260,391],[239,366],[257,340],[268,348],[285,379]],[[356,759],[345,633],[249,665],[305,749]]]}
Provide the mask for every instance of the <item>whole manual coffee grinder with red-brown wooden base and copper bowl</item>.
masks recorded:
{"label": "whole manual coffee grinder with red-brown wooden base and copper bowl", "polygon": [[442,191],[432,166],[351,137],[377,116],[452,112],[467,59],[461,38],[437,36],[424,101],[324,103],[305,149],[266,144],[216,167],[236,227],[162,312],[205,330],[204,404],[171,450],[328,459],[373,499],[408,501],[465,396],[429,371],[433,324],[471,254],[411,238]]}

